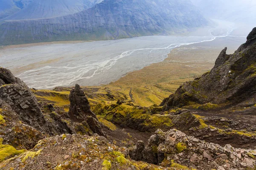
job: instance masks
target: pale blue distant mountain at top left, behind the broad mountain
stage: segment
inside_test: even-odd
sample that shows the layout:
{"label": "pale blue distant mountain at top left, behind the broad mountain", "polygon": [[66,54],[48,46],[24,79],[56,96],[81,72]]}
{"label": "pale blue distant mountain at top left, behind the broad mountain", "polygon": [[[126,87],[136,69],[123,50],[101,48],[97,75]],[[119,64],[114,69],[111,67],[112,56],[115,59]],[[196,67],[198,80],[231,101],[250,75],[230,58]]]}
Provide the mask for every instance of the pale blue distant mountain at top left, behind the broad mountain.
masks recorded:
{"label": "pale blue distant mountain at top left, behind the broad mountain", "polygon": [[33,0],[25,8],[3,20],[59,17],[80,12],[93,5],[90,0]]}

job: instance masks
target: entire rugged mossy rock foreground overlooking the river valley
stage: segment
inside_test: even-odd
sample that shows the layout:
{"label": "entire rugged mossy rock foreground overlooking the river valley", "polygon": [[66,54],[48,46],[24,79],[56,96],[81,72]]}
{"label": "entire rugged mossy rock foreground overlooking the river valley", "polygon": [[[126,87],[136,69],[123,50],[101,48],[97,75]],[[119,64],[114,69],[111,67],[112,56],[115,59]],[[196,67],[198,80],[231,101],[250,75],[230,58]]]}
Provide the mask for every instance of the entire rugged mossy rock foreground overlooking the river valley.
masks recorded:
{"label": "entire rugged mossy rock foreground overlooking the river valley", "polygon": [[30,90],[0,68],[0,169],[255,170],[255,68],[256,28],[149,108],[109,89]]}

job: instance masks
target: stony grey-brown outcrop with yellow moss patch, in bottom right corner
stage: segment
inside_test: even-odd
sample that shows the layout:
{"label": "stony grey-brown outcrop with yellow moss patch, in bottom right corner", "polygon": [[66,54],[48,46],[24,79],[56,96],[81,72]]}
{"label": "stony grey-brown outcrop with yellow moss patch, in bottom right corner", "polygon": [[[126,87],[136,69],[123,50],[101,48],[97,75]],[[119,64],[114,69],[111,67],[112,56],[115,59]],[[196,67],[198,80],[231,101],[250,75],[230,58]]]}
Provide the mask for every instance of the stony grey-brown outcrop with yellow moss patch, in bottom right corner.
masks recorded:
{"label": "stony grey-brown outcrop with yellow moss patch, in bottom right corner", "polygon": [[[141,143],[139,141],[137,145],[143,146]],[[198,170],[245,170],[256,165],[256,150],[236,149],[230,144],[221,147],[187,136],[176,129],[167,132],[157,130],[144,150],[143,147],[130,148],[131,159],[160,164],[162,167],[181,164]]]}

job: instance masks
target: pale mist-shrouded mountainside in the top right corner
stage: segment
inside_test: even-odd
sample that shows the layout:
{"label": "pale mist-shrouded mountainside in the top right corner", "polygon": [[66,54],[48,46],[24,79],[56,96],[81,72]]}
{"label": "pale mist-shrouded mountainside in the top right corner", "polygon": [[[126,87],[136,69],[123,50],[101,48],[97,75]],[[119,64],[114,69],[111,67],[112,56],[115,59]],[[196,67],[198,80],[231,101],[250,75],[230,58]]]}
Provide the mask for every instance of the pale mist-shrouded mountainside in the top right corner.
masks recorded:
{"label": "pale mist-shrouded mountainside in the top right corner", "polygon": [[256,21],[255,0],[191,0],[209,18],[232,22]]}

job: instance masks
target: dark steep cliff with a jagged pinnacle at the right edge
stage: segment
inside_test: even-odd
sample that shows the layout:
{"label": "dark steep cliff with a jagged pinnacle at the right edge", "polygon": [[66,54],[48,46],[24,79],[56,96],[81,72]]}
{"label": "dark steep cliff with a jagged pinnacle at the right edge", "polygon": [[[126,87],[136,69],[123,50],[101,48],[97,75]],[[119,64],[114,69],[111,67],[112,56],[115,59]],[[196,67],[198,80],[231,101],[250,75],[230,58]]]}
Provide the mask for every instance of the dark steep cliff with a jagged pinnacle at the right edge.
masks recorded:
{"label": "dark steep cliff with a jagged pinnacle at the right edge", "polygon": [[256,28],[234,54],[221,51],[211,71],[186,82],[164,99],[165,110],[193,103],[232,105],[256,94]]}

